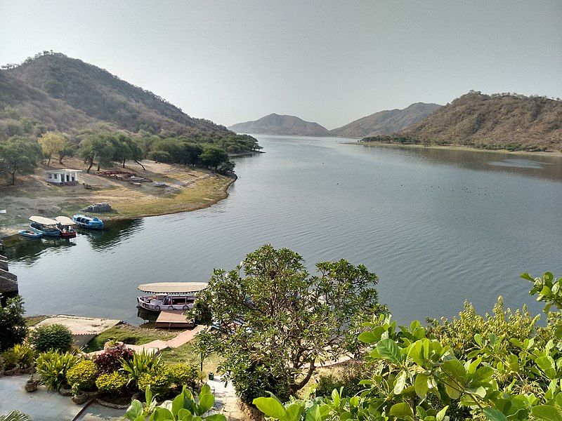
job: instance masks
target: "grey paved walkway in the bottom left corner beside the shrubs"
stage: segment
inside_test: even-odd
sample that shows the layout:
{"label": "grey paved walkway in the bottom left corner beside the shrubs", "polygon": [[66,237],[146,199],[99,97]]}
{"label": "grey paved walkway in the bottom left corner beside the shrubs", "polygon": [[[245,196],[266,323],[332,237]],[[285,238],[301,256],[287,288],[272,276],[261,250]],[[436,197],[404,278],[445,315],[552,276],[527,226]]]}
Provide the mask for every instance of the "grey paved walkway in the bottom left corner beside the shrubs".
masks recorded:
{"label": "grey paved walkway in the bottom left corner beside the shrubs", "polygon": [[[85,404],[77,405],[70,396],[60,396],[57,392],[49,392],[39,386],[35,392],[25,392],[27,375],[0,377],[0,415],[18,409],[30,415],[34,421],[72,421],[84,408]],[[106,408],[93,403],[78,420],[101,421],[123,420],[125,410]]]}

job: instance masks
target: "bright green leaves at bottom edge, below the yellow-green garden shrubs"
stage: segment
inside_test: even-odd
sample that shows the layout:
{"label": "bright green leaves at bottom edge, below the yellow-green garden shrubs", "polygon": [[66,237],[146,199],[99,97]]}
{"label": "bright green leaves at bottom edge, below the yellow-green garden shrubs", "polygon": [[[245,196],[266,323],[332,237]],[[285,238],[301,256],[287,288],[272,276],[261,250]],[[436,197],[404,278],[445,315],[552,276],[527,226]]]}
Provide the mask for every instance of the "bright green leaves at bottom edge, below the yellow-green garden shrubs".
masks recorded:
{"label": "bright green leaves at bottom edge, below the yellow-green garden shrubs", "polygon": [[173,401],[164,401],[161,405],[156,404],[155,396],[152,396],[150,387],[145,389],[145,405],[141,401],[134,400],[125,414],[130,421],[226,421],[222,414],[204,416],[215,403],[215,397],[211,393],[211,387],[204,385],[198,396],[183,387],[181,394],[178,394]]}

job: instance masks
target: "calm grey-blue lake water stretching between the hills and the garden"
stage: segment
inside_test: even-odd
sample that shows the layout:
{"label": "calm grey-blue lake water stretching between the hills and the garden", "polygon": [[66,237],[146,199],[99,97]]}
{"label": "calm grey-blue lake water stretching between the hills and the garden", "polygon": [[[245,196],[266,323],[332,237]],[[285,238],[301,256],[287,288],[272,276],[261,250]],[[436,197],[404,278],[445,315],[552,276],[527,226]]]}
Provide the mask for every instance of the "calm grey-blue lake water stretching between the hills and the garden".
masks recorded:
{"label": "calm grey-blue lake water stretching between the hills and the garden", "polygon": [[400,323],[450,317],[464,300],[485,312],[498,295],[540,312],[518,275],[562,276],[558,157],[258,138],[266,154],[237,159],[239,180],[211,208],[12,243],[27,313],[141,323],[138,284],[207,281],[263,243],[298,251],[310,269],[367,265]]}

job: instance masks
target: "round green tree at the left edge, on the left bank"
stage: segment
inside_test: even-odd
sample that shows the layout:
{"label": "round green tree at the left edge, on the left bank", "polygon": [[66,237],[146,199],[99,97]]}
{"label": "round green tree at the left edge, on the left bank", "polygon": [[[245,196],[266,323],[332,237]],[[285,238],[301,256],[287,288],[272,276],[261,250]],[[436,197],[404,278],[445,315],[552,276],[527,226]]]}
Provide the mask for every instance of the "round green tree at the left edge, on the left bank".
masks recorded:
{"label": "round green tree at the left edge, on the left bank", "polygon": [[13,136],[0,142],[0,173],[11,177],[11,185],[15,184],[15,174],[30,174],[41,159],[41,147],[34,140]]}

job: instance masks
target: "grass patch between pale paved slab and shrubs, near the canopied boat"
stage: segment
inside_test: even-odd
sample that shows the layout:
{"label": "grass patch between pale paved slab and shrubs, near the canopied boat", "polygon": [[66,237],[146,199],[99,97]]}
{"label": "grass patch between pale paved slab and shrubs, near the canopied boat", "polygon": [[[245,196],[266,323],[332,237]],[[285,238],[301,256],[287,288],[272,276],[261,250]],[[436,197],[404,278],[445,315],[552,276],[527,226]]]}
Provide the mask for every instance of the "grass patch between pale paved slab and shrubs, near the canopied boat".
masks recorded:
{"label": "grass patch between pale paved slab and shrubs, near the canopied boat", "polygon": [[95,336],[88,342],[84,352],[93,352],[103,349],[103,344],[110,339],[125,342],[129,345],[143,345],[153,340],[169,340],[178,333],[168,330],[140,328],[128,324],[113,326]]}

